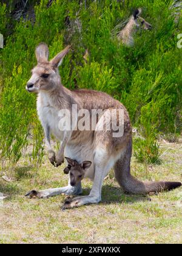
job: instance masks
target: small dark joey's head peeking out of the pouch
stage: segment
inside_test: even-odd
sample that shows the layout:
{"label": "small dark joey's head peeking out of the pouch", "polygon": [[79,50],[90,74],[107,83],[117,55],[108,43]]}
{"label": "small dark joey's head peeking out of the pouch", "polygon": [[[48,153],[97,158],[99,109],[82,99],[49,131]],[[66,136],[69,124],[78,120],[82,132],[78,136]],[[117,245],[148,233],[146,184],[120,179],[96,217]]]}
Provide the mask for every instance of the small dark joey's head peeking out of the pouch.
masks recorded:
{"label": "small dark joey's head peeking out of the pouch", "polygon": [[81,180],[83,180],[86,170],[92,165],[92,162],[84,161],[83,163],[79,164],[69,157],[66,157],[66,160],[69,165],[64,169],[64,173],[70,173],[70,185],[74,187],[78,185]]}

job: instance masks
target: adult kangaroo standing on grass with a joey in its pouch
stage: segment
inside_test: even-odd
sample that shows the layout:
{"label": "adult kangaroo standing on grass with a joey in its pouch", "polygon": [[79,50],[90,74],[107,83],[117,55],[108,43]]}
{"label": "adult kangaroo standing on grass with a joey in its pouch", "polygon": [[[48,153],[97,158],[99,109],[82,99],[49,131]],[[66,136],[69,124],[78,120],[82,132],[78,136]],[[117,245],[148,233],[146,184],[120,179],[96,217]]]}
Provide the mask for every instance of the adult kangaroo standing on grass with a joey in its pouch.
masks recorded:
{"label": "adult kangaroo standing on grass with a joey in its pouch", "polygon": [[[181,186],[180,182],[149,182],[144,183],[136,180],[130,174],[130,159],[132,156],[132,127],[126,108],[106,93],[93,90],[70,91],[61,84],[58,66],[64,56],[69,52],[69,46],[49,61],[49,48],[45,43],[36,48],[36,59],[38,65],[32,70],[32,77],[27,82],[26,90],[30,93],[38,93],[37,110],[39,119],[45,132],[45,141],[50,162],[60,166],[66,157],[75,159],[78,163],[85,160],[92,162],[84,177],[93,180],[93,187],[89,196],[75,197],[66,204],[66,208],[78,207],[84,204],[94,204],[101,201],[101,188],[103,180],[109,170],[114,167],[115,177],[118,183],[128,193],[146,194],[161,190],[172,190]],[[61,129],[60,110],[66,109],[73,112],[72,106],[76,105],[78,110],[86,109],[103,110],[92,130],[76,130],[79,122],[73,122],[74,129]],[[110,110],[123,111],[124,122],[123,136],[113,136],[113,130],[99,129],[103,122],[109,117]],[[116,115],[117,123],[120,117]],[[105,120],[105,121],[104,121]],[[57,154],[50,145],[50,132],[61,142]],[[58,194],[78,195],[82,193],[81,182],[67,187],[53,188],[42,191],[30,191],[27,196],[39,198],[56,196]]]}

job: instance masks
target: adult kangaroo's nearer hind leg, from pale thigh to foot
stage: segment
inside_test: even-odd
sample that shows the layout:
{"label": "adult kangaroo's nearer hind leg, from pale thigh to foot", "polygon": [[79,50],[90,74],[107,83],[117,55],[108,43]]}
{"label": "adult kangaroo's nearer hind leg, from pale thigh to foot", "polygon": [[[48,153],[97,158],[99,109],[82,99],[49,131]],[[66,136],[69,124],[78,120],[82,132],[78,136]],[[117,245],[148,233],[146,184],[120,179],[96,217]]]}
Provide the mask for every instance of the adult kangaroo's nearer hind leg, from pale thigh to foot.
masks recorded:
{"label": "adult kangaroo's nearer hind leg, from pale thigh to foot", "polygon": [[115,164],[113,157],[112,138],[113,131],[104,129],[110,124],[110,110],[104,112],[95,127],[95,137],[93,149],[93,167],[95,175],[93,187],[89,196],[75,197],[73,200],[66,201],[63,208],[79,207],[85,204],[97,204],[101,201],[101,190],[104,178]]}

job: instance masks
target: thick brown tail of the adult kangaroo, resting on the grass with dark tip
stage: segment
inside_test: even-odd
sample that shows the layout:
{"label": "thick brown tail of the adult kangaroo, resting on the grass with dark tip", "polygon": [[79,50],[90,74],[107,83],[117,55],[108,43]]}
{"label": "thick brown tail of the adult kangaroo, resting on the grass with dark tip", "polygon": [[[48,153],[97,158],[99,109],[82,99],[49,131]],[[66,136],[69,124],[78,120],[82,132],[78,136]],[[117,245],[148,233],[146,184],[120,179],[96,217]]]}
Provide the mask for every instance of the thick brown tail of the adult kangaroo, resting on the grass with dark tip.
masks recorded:
{"label": "thick brown tail of the adult kangaroo, resting on the grass with dark tip", "polygon": [[181,182],[141,182],[135,179],[130,174],[130,159],[132,156],[132,139],[125,153],[115,164],[115,177],[120,186],[127,193],[132,194],[147,194],[150,192],[161,192],[164,190],[173,190],[175,188],[181,187]]}

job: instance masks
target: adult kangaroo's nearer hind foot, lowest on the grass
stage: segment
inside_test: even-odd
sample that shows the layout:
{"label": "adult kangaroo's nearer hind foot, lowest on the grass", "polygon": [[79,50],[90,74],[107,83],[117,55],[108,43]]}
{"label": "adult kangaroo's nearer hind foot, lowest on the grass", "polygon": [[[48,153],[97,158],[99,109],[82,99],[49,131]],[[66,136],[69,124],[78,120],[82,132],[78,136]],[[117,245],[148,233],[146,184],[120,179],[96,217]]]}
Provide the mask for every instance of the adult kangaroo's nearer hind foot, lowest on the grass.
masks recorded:
{"label": "adult kangaroo's nearer hind foot, lowest on the grass", "polygon": [[85,204],[98,204],[101,201],[100,197],[95,196],[79,196],[73,199],[67,198],[64,202],[62,210],[71,209],[75,207],[80,207]]}

